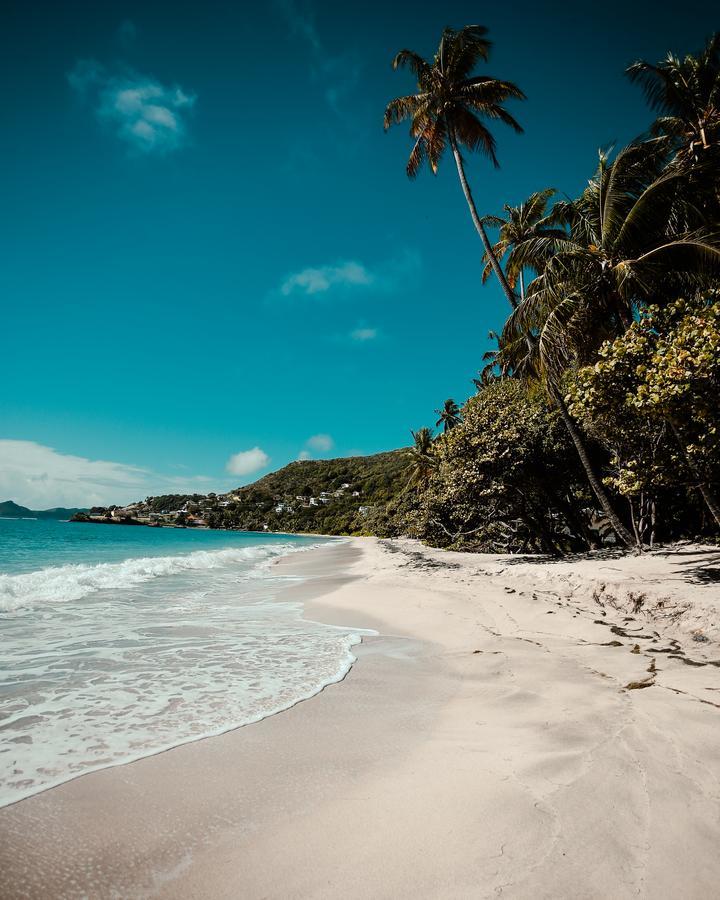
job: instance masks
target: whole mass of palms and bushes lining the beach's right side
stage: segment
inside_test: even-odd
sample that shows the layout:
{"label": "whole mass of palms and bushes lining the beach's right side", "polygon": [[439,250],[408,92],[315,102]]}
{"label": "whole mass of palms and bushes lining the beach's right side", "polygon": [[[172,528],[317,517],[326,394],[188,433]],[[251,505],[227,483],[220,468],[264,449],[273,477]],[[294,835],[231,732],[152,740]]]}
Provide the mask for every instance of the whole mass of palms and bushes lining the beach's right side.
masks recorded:
{"label": "whole mass of palms and bushes lining the beach's right side", "polygon": [[[720,532],[720,36],[697,54],[627,69],[657,118],[603,150],[586,188],[541,187],[481,215],[463,151],[497,165],[489,126],[522,128],[524,98],[476,74],[487,29],[445,29],[430,60],[401,50],[416,79],[385,127],[409,121],[406,165],[455,159],[510,309],[491,337],[476,396],[413,432],[407,489],[381,533],[450,547],[561,553],[602,543],[642,550]],[[641,125],[641,128],[643,126]],[[489,230],[497,237],[490,240]]]}

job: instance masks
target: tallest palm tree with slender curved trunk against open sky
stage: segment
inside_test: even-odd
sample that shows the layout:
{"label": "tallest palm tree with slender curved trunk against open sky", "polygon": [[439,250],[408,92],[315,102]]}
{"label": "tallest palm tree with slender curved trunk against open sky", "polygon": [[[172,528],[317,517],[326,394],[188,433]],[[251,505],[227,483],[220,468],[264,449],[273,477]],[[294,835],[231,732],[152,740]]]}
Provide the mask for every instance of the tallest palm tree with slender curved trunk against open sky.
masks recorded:
{"label": "tallest palm tree with slender curved trunk against open sky", "polygon": [[401,50],[393,60],[393,68],[407,66],[417,78],[417,92],[391,100],[385,109],[385,129],[410,119],[410,134],[414,139],[407,162],[408,177],[414,178],[427,160],[432,172],[438,170],[440,159],[449,145],[455,158],[460,184],[470,215],[485,249],[485,255],[508,299],[517,306],[515,293],[505,278],[485,226],[478,215],[460,147],[479,150],[497,168],[495,138],[483,119],[497,119],[517,132],[522,128],[503,104],[525,95],[510,81],[499,81],[489,75],[475,75],[478,62],[487,61],[491,42],[482,25],[466,25],[459,31],[446,28],[431,62],[412,50]]}

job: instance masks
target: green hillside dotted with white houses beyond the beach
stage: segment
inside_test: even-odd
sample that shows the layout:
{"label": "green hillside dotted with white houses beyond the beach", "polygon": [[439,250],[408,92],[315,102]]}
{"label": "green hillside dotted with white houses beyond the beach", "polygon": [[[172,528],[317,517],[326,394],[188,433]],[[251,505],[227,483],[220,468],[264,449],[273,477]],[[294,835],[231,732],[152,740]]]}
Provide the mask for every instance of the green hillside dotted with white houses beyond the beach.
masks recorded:
{"label": "green hillside dotted with white houses beyond the beach", "polygon": [[93,507],[76,521],[359,534],[407,483],[404,450],[298,460],[227,494],[163,494]]}

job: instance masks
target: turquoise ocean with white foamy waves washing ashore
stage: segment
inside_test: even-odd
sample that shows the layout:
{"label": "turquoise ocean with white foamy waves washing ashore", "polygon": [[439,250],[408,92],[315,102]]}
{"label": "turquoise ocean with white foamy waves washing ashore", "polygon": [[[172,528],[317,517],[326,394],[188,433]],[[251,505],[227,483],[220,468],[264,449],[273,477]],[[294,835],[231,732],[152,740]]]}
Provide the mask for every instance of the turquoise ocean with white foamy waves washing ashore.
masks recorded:
{"label": "turquoise ocean with white foamy waves washing ashore", "polygon": [[272,566],[323,543],[0,519],[0,806],[344,677],[360,633],[304,619]]}

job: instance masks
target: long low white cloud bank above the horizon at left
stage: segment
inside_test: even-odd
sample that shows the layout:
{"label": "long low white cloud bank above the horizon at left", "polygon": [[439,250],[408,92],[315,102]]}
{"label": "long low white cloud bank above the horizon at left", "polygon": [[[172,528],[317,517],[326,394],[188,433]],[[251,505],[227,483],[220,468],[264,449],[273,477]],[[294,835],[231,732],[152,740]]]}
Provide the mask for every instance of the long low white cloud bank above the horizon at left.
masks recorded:
{"label": "long low white cloud bank above the horizon at left", "polygon": [[139,466],[58,453],[35,441],[0,439],[0,499],[30,509],[129,503],[148,494],[202,492],[211,479],[168,477]]}

